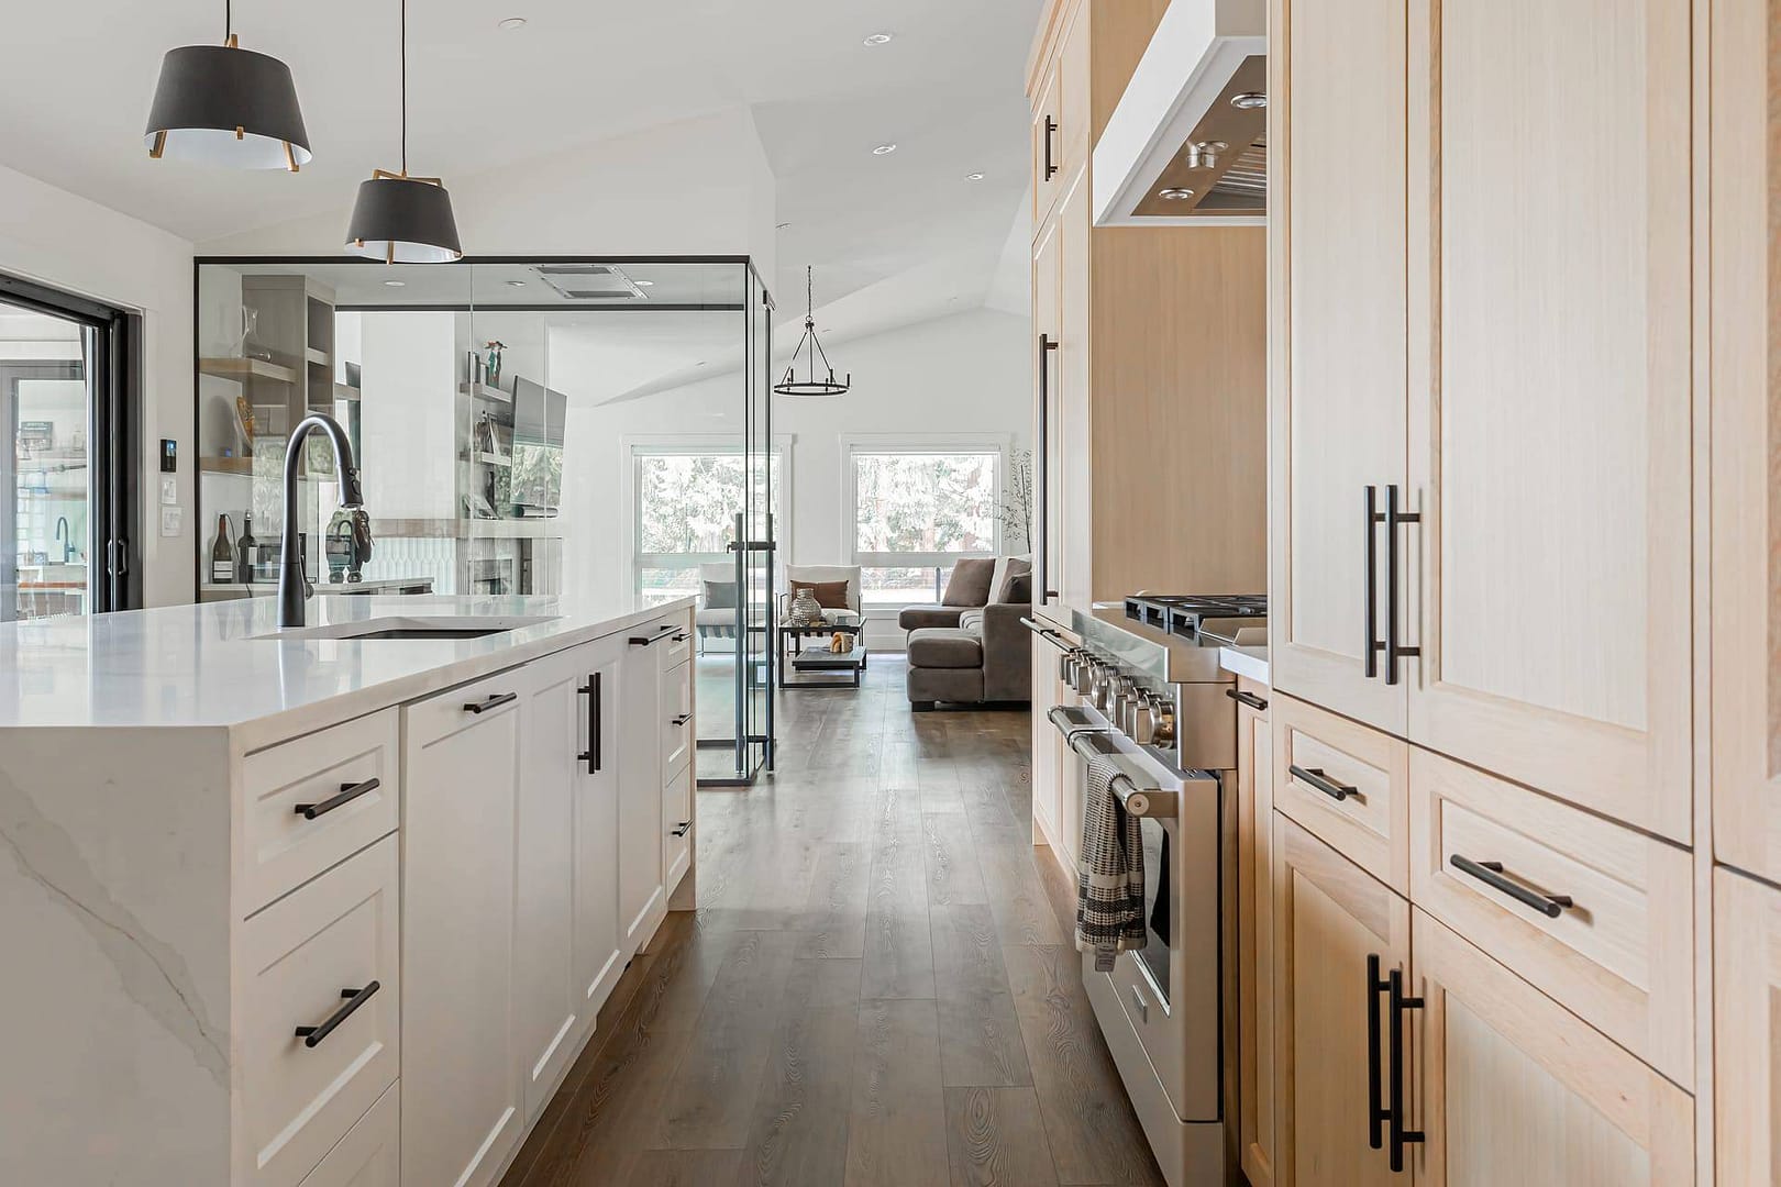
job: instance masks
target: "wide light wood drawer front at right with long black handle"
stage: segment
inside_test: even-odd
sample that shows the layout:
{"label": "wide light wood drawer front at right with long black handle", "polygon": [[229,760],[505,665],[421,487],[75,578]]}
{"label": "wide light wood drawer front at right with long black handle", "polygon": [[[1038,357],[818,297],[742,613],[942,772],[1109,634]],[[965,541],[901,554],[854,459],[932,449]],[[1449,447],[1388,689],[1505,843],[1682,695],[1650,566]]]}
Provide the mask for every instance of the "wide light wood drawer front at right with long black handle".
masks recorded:
{"label": "wide light wood drawer front at right with long black handle", "polygon": [[1416,906],[1676,1084],[1694,1082],[1687,851],[1421,747],[1411,838]]}

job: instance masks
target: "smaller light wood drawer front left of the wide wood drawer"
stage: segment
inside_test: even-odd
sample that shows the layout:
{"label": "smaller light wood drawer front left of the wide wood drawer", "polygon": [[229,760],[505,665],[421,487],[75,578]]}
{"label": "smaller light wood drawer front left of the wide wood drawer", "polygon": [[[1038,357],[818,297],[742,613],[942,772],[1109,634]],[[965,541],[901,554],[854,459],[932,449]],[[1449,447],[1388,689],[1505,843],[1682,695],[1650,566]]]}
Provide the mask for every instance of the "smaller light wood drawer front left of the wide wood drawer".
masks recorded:
{"label": "smaller light wood drawer front left of the wide wood drawer", "polygon": [[1273,806],[1409,895],[1409,746],[1389,733],[1275,696]]}

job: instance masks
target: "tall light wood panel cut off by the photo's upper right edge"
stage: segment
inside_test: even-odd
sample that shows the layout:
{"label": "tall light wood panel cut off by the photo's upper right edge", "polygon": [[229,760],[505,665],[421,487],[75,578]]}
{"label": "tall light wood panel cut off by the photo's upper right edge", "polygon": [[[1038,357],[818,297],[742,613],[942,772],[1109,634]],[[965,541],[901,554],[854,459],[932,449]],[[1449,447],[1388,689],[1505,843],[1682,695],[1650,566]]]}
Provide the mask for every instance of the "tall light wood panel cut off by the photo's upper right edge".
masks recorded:
{"label": "tall light wood panel cut off by the photo's upper right edge", "polygon": [[1712,5],[1713,856],[1770,881],[1781,881],[1777,30],[1774,5]]}

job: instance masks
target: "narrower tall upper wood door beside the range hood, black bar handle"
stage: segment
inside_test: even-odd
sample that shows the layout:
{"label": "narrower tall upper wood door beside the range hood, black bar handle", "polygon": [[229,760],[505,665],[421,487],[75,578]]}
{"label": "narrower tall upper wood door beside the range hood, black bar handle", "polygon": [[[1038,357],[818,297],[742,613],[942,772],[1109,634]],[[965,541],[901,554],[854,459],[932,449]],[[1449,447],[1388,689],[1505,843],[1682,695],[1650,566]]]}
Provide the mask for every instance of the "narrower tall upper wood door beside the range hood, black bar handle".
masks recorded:
{"label": "narrower tall upper wood door beside the range hood, black bar handle", "polygon": [[1405,20],[1405,0],[1273,0],[1268,32],[1270,682],[1398,735],[1366,497],[1384,513],[1407,484]]}

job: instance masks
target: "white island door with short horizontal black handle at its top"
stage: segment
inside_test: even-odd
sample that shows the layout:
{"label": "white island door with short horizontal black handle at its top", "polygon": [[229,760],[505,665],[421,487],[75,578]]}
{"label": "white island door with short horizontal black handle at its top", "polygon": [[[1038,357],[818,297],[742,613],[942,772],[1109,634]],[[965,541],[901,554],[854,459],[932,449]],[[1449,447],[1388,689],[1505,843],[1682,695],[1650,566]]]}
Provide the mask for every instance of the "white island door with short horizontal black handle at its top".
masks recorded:
{"label": "white island door with short horizontal black handle at its top", "polygon": [[490,1183],[524,1130],[515,808],[525,669],[403,710],[403,1182]]}

